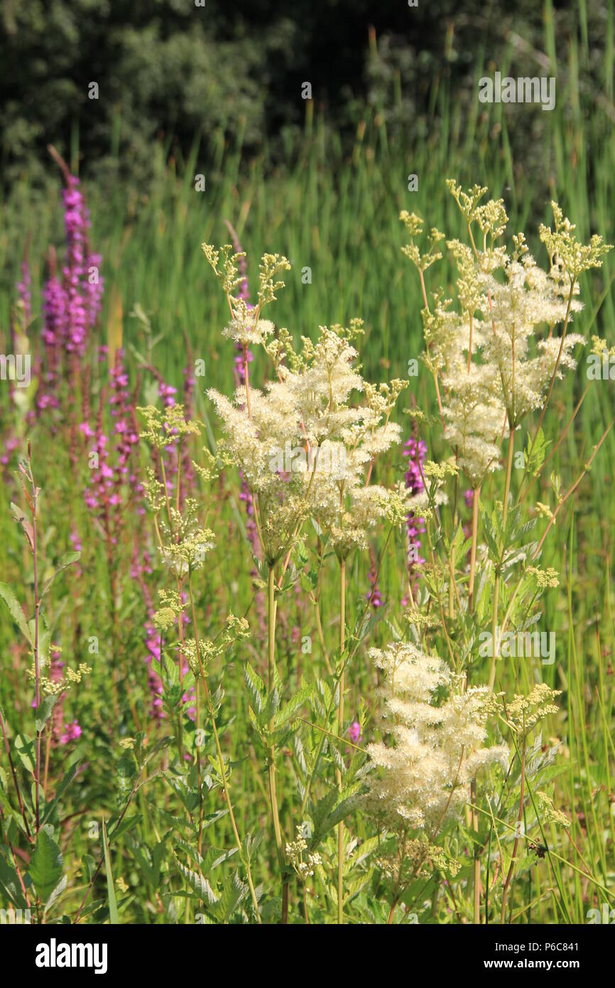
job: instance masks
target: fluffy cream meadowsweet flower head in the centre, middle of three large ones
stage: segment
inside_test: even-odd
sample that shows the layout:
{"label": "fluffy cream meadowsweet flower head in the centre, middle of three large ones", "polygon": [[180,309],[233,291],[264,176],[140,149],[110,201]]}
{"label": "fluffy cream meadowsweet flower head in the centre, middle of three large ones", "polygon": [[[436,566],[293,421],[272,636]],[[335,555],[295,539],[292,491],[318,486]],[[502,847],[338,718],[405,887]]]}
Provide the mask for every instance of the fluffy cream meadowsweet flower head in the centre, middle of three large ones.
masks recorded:
{"label": "fluffy cream meadowsweet flower head in the centre, middle of three large ones", "polygon": [[[223,285],[233,286],[237,257],[231,249],[203,250]],[[259,312],[281,287],[274,277],[285,270],[284,262],[264,257],[256,311],[229,295],[233,318],[223,333],[244,347],[261,345],[276,379],[264,389],[247,382],[233,400],[215,388],[207,394],[222,421],[224,450],[255,496],[269,564],[310,514],[346,558],[354,548],[367,547],[367,533],[380,520],[402,524],[408,513],[407,492],[370,486],[375,458],[401,441],[401,428],[390,416],[407,382],[374,385],[363,379],[353,345],[362,333],[360,320],[349,327],[320,326],[316,341],[302,337],[299,352],[287,330],[272,338],[273,324]]]}

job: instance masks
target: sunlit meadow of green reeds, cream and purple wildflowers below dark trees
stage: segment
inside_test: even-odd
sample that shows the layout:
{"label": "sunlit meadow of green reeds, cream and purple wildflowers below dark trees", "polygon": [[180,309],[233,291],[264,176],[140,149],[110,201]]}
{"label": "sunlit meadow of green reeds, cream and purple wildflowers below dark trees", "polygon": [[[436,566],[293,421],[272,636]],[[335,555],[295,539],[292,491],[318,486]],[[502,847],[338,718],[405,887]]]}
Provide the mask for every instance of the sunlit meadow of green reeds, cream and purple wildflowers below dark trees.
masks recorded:
{"label": "sunlit meadow of green reeds, cream and purple wildflowers below dark trees", "polygon": [[308,104],[279,174],[17,183],[3,916],[615,916],[615,138],[560,99],[538,206],[444,91],[410,162]]}

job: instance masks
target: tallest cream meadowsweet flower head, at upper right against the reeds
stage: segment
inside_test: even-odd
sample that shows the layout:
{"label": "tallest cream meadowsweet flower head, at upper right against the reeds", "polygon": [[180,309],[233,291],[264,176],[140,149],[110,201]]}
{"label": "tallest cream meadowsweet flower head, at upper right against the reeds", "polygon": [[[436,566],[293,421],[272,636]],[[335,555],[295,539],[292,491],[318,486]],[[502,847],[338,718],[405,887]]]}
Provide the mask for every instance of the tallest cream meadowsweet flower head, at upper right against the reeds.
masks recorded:
{"label": "tallest cream meadowsweet flower head, at upper right against the reeds", "polygon": [[[512,237],[510,252],[497,243],[508,220],[501,200],[483,202],[483,186],[465,192],[452,179],[446,185],[470,243],[447,241],[458,271],[456,298],[444,298],[436,289],[432,304],[423,308],[423,360],[436,382],[441,380],[444,434],[476,489],[500,468],[500,443],[508,430],[543,406],[553,380],[577,367],[574,351],[584,340],[568,332],[582,308],[577,278],[599,267],[610,246],[597,236],[579,244],[574,225],[553,204],[555,229],[540,227],[549,254],[545,271],[529,253],[523,233]],[[429,263],[436,258],[433,243],[422,255],[415,242],[422,221],[407,212],[400,218],[411,236],[404,252],[423,278],[424,258]]]}

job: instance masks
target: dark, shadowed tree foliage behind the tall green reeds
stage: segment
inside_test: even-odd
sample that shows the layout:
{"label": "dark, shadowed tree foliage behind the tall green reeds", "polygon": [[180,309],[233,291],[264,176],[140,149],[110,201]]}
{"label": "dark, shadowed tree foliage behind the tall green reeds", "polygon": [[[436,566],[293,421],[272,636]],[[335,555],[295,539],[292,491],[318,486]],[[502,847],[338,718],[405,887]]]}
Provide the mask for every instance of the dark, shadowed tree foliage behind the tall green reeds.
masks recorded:
{"label": "dark, shadowed tree foliage behind the tall green reeds", "polygon": [[[543,32],[542,5],[530,0],[510,10],[492,0],[197,2],[4,0],[3,184],[27,168],[40,177],[49,142],[73,164],[78,149],[82,170],[99,178],[145,177],[160,137],[180,159],[196,138],[210,152],[220,134],[249,152],[267,145],[274,159],[280,135],[303,124],[304,81],[343,134],[367,103],[420,137],[433,78],[461,93],[509,29],[530,46]],[[568,6],[556,5],[564,33]],[[596,10],[596,36],[600,23]]]}

